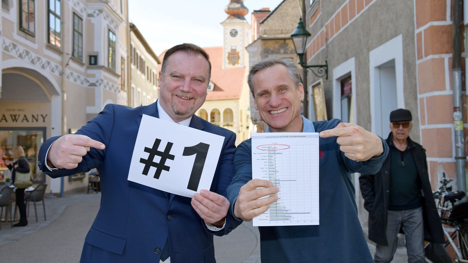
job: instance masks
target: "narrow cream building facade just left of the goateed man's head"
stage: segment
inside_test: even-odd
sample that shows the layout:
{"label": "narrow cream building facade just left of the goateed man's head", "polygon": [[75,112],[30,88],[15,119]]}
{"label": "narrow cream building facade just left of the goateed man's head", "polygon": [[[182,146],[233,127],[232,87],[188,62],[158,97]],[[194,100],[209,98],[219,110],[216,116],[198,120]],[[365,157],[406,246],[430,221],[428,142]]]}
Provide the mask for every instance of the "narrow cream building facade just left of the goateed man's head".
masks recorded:
{"label": "narrow cream building facade just left of the goateed man's head", "polygon": [[130,23],[130,89],[129,106],[149,105],[159,97],[159,58],[138,28]]}

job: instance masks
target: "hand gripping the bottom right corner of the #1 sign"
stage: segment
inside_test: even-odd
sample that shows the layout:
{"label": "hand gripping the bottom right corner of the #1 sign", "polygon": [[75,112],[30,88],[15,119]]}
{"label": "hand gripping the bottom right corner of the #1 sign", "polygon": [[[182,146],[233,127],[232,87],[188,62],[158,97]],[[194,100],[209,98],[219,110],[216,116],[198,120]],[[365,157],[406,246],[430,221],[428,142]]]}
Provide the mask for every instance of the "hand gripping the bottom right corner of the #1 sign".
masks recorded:
{"label": "hand gripping the bottom right corner of the #1 sign", "polygon": [[200,190],[192,198],[191,205],[206,223],[222,227],[226,220],[229,201],[226,197],[208,190]]}

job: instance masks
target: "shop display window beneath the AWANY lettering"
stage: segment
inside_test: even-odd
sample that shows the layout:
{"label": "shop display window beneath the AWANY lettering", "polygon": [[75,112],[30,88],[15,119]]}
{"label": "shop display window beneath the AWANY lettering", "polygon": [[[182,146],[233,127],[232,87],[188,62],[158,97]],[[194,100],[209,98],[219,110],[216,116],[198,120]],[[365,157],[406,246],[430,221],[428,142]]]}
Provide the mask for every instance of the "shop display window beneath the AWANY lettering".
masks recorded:
{"label": "shop display window beneath the AWANY lettering", "polygon": [[31,168],[33,183],[45,183],[45,174],[37,167],[37,154],[39,147],[45,140],[45,129],[45,127],[0,127],[0,184],[5,184],[6,178],[11,177],[10,170],[3,160],[13,160],[11,149],[15,146],[22,146],[24,149],[25,157]]}

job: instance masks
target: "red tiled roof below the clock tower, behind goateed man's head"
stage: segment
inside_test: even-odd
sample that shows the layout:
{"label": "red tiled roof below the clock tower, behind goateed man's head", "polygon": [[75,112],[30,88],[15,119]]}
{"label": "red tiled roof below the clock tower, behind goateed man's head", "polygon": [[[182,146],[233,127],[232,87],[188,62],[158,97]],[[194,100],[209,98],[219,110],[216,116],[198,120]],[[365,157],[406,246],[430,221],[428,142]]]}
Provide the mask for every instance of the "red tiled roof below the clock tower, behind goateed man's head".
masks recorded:
{"label": "red tiled roof below the clock tower, behind goateed man's head", "polygon": [[[211,81],[214,84],[213,91],[208,91],[206,96],[207,101],[213,100],[230,100],[239,99],[241,97],[242,86],[244,85],[245,68],[226,68],[223,69],[223,47],[204,47],[203,48],[210,56],[211,62]],[[159,55],[162,62],[166,51]],[[161,70],[161,65],[158,64],[158,70]]]}

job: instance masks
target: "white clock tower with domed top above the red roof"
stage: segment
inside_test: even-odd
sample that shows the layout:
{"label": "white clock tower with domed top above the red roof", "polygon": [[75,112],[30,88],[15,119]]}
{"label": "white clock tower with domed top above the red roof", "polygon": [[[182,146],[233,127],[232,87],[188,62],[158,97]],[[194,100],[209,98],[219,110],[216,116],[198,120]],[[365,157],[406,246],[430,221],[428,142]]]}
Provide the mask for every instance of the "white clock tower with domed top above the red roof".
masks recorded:
{"label": "white clock tower with domed top above the red roof", "polygon": [[223,68],[249,67],[249,52],[245,49],[249,45],[250,26],[245,20],[249,9],[244,6],[244,0],[230,0],[224,8],[227,14],[224,27]]}

